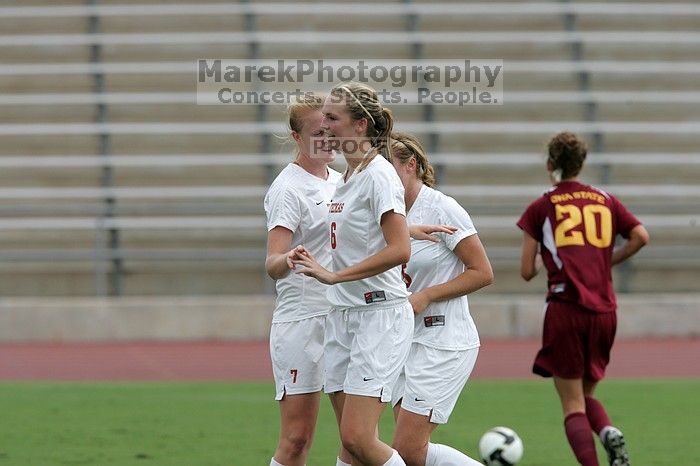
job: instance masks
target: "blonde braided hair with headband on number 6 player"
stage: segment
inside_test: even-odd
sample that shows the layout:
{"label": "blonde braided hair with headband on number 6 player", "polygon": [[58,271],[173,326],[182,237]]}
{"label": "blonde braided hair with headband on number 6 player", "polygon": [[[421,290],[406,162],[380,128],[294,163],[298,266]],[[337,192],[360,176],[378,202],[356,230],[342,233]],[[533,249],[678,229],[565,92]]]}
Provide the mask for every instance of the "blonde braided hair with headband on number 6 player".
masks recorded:
{"label": "blonde braided hair with headband on number 6 player", "polygon": [[334,87],[330,94],[344,97],[345,106],[352,120],[367,118],[366,136],[369,137],[376,152],[369,157],[365,156],[355,171],[364,170],[377,154],[382,154],[384,158],[389,159],[388,140],[394,127],[394,117],[391,110],[383,107],[379,102],[377,91],[365,84],[349,82]]}

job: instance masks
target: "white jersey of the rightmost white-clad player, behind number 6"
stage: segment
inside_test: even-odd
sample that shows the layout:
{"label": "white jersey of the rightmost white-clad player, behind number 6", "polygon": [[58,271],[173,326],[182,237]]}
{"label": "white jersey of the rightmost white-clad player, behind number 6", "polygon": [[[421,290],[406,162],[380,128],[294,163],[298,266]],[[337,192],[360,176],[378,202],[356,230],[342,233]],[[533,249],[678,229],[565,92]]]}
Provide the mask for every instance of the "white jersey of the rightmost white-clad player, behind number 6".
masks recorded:
{"label": "white jersey of the rightmost white-clad player, behind number 6", "polygon": [[[458,230],[436,233],[439,243],[411,239],[411,260],[405,277],[411,292],[448,282],[464,272],[464,264],[453,250],[464,238],[476,233],[466,210],[453,198],[423,186],[408,212],[409,225],[449,225]],[[413,342],[437,349],[464,350],[479,346],[479,334],[469,314],[466,296],[430,304],[415,319]]]}

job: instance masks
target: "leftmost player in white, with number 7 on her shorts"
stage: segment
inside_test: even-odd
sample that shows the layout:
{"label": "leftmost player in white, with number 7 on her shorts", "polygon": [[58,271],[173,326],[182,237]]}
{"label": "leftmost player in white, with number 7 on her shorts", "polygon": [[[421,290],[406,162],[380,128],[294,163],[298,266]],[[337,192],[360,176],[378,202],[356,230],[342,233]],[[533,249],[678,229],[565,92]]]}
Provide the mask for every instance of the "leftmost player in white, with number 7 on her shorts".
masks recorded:
{"label": "leftmost player in white, with number 7 on her shorts", "polygon": [[270,355],[281,415],[279,444],[271,466],[303,466],[316,426],[323,388],[323,338],[330,304],[326,285],[290,273],[293,250],[304,245],[330,263],[326,217],[340,173],[328,167],[334,154],[313,146],[323,134],[323,98],[307,96],[289,105],[294,162],[277,176],[265,196],[267,273],[276,280]]}

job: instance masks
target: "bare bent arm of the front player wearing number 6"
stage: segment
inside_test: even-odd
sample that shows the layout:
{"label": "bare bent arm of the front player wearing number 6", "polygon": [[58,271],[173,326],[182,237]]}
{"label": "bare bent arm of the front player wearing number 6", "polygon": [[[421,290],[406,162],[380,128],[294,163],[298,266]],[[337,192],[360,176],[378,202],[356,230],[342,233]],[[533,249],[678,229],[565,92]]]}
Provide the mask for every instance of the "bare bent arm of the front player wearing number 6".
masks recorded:
{"label": "bare bent arm of the front player wearing number 6", "polygon": [[308,252],[297,254],[293,263],[303,267],[299,273],[315,277],[321,283],[333,285],[372,277],[408,262],[411,257],[411,240],[408,236],[406,218],[394,211],[385,212],[382,215],[381,226],[386,246],[355,265],[337,272],[329,272]]}

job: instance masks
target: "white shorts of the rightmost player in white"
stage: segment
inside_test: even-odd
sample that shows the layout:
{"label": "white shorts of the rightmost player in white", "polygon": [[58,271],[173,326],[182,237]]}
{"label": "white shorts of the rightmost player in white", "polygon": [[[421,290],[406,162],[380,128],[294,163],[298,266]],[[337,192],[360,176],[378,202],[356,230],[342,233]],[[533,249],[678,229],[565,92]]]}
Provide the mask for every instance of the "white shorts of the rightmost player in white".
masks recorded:
{"label": "white shorts of the rightmost player in white", "polygon": [[406,411],[429,416],[430,422],[435,424],[447,423],[478,354],[479,348],[440,350],[413,343],[396,383],[392,406],[401,401]]}

